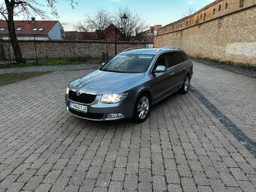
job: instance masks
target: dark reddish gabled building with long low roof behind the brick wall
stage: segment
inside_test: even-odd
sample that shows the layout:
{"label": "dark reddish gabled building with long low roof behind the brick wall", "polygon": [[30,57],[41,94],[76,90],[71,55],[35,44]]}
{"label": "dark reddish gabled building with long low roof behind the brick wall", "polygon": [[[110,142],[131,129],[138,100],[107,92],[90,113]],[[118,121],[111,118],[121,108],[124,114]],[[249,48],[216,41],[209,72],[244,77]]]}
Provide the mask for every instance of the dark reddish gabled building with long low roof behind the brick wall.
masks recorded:
{"label": "dark reddish gabled building with long low roof behind the brick wall", "polygon": [[114,26],[114,24],[109,25],[105,30],[95,31],[95,32],[78,32],[78,31],[70,31],[65,32],[66,40],[107,40],[114,41],[115,35],[117,33],[117,40],[120,40],[121,34],[120,30]]}

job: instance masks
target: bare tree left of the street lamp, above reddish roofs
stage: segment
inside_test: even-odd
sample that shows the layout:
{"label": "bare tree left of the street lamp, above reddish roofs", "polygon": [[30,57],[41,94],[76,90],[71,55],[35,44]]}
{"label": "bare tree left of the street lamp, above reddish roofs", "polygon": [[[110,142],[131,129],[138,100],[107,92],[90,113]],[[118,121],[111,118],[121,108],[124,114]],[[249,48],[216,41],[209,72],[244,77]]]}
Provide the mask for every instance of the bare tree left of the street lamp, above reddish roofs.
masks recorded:
{"label": "bare tree left of the street lamp, above reddish roofs", "polygon": [[99,40],[106,37],[106,28],[112,23],[112,15],[107,10],[100,8],[93,16],[85,15],[82,22],[75,26],[81,32],[96,32]]}

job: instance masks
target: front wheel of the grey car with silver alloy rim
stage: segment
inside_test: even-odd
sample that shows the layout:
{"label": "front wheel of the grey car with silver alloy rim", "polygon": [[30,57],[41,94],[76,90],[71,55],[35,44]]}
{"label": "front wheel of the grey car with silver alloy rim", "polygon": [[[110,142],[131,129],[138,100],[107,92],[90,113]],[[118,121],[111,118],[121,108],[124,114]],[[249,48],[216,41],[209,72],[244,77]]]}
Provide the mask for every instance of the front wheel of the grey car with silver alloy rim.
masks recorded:
{"label": "front wheel of the grey car with silver alloy rim", "polygon": [[148,117],[150,108],[151,108],[150,96],[148,95],[148,93],[142,93],[138,97],[134,105],[133,121],[136,123],[144,122]]}

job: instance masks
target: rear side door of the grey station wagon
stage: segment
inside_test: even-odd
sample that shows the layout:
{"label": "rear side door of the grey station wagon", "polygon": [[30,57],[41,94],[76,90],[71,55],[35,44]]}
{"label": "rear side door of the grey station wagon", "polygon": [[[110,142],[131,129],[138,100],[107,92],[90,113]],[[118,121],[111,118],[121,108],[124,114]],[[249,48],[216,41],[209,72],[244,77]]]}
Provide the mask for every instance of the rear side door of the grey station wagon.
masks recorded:
{"label": "rear side door of the grey station wagon", "polygon": [[168,62],[169,62],[169,87],[172,87],[171,92],[178,90],[183,84],[184,77],[184,66],[181,55],[178,51],[172,51],[168,53]]}

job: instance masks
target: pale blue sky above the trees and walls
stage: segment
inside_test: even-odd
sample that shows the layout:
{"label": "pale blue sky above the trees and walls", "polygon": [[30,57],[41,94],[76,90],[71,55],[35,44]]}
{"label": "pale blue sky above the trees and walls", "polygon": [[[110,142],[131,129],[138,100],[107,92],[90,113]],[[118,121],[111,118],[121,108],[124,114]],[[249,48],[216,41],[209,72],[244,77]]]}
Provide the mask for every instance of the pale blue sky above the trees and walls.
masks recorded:
{"label": "pale blue sky above the trees and walls", "polygon": [[[3,0],[0,0],[2,2]],[[78,2],[72,9],[67,0],[57,0],[56,9],[59,18],[48,15],[53,20],[59,20],[66,31],[75,30],[74,25],[83,20],[85,14],[92,15],[99,8],[115,13],[118,7],[128,7],[131,11],[141,14],[148,26],[167,25],[182,18],[189,8],[198,11],[209,5],[213,0],[75,0]],[[37,2],[45,2],[38,0]],[[45,10],[45,9],[44,9]],[[35,17],[36,19],[40,19]]]}

